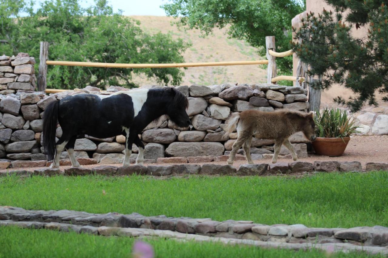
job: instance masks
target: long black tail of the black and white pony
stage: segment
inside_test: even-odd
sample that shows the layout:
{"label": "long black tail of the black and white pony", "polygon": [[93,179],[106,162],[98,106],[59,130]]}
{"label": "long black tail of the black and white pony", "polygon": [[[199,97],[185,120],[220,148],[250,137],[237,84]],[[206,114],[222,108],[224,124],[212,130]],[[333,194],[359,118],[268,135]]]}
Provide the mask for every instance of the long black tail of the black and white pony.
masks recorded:
{"label": "long black tail of the black and white pony", "polygon": [[47,160],[54,159],[59,101],[50,103],[43,114],[43,147]]}

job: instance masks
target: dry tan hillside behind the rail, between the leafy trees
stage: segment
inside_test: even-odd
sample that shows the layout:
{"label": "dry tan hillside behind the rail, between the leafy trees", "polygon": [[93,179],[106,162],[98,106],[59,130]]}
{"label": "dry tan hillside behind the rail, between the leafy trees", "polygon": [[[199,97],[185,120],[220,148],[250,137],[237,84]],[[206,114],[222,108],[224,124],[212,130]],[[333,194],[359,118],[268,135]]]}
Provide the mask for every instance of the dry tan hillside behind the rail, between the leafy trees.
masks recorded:
{"label": "dry tan hillside behind the rail, between the leafy trees", "polygon": [[[256,49],[242,40],[228,39],[225,29],[215,29],[214,33],[201,38],[198,30],[185,31],[171,26],[172,17],[166,16],[130,16],[141,22],[140,27],[147,33],[171,33],[173,38],[182,38],[191,43],[184,53],[185,62],[221,62],[262,60]],[[183,70],[183,68],[182,68]],[[189,67],[184,70],[182,85],[220,83],[264,83],[267,71],[259,65],[235,65],[215,67]],[[134,81],[143,84],[154,84],[156,80],[147,77],[135,77]]]}

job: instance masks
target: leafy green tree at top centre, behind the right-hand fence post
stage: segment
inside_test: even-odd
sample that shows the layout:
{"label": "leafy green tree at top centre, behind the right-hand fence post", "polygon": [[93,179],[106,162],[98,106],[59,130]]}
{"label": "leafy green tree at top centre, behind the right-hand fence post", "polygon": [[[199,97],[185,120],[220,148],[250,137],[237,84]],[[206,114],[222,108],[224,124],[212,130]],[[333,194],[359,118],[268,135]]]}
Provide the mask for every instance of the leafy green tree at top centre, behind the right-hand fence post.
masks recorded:
{"label": "leafy green tree at top centre, behind the right-hand fence post", "polygon": [[[172,0],[162,7],[179,18],[178,25],[200,29],[204,35],[227,27],[231,38],[246,40],[265,56],[265,36],[275,36],[278,51],[289,50],[291,19],[304,6],[295,0]],[[278,58],[276,64],[280,73],[291,74],[291,56]]]}

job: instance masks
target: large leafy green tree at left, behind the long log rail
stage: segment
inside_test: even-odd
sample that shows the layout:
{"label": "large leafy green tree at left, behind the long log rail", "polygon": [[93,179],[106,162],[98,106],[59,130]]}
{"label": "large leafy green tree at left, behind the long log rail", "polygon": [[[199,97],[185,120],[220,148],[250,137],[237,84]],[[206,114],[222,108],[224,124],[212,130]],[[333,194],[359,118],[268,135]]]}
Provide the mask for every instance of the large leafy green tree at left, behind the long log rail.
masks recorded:
{"label": "large leafy green tree at left, behind the long log rail", "polygon": [[[182,53],[189,46],[182,40],[173,40],[170,34],[147,34],[140,22],[114,13],[106,0],[97,0],[87,9],[78,0],[49,0],[34,11],[23,1],[18,6],[8,0],[7,8],[0,11],[12,26],[2,28],[0,53],[29,53],[39,57],[40,41],[50,43],[50,60],[104,63],[180,63]],[[27,17],[19,17],[21,11]],[[12,14],[12,15],[11,15]],[[8,16],[7,16],[8,15]],[[14,19],[12,19],[14,18]],[[14,26],[15,25],[15,26]],[[154,77],[158,83],[178,85],[184,72],[178,68],[97,68],[76,66],[48,67],[47,85],[50,88],[79,88],[86,85],[103,88],[109,85],[135,87],[133,74]]]}

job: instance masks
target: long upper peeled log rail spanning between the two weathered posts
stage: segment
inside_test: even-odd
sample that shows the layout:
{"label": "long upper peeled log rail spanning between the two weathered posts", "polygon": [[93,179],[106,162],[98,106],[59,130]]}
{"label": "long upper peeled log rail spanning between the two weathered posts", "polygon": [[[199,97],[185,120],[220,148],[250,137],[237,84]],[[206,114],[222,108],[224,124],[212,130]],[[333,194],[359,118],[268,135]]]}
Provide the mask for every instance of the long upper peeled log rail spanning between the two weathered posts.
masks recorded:
{"label": "long upper peeled log rail spanning between the two weathered posts", "polygon": [[200,67],[200,66],[223,66],[223,65],[258,65],[268,64],[268,60],[257,61],[233,61],[233,62],[204,62],[204,63],[180,63],[180,64],[112,64],[93,62],[69,62],[69,61],[46,61],[48,65],[68,65],[87,67],[113,67],[113,68],[171,68],[171,67]]}

